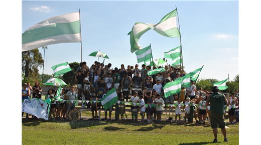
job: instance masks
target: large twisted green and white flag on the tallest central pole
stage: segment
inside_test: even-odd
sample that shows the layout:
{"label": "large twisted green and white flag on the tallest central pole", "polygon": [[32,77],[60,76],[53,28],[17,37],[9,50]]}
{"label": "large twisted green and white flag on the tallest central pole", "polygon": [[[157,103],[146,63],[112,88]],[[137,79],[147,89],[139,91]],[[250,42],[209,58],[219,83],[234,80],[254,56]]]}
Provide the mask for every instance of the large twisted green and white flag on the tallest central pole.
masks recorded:
{"label": "large twisted green and white flag on the tallest central pole", "polygon": [[177,28],[176,13],[177,9],[171,11],[157,24],[136,22],[132,30],[128,33],[128,35],[130,35],[131,52],[133,53],[142,48],[138,41],[140,37],[150,29],[154,29],[164,36],[180,37],[180,32]]}

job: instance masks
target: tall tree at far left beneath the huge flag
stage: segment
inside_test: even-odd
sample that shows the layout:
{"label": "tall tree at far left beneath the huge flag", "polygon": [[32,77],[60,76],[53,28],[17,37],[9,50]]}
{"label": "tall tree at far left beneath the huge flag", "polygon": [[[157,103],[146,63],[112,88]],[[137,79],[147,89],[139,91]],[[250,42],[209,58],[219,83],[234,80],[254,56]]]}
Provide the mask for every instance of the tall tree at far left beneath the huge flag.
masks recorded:
{"label": "tall tree at far left beneath the huge flag", "polygon": [[23,82],[34,83],[39,77],[38,67],[43,66],[43,57],[39,49],[32,49],[22,52],[22,80]]}

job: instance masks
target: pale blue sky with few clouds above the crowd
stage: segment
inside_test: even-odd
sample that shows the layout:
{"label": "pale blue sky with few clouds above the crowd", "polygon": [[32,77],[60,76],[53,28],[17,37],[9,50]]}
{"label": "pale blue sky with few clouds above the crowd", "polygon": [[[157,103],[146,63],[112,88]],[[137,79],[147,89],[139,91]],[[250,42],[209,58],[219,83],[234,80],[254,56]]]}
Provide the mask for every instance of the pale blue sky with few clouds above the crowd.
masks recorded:
{"label": "pale blue sky with few clouds above the crowd", "polygon": [[[232,80],[238,74],[238,1],[23,1],[22,30],[80,8],[83,61],[91,65],[98,58],[88,55],[100,49],[110,58],[104,63],[112,63],[113,68],[135,65],[137,57],[130,51],[127,33],[138,21],[158,23],[175,5],[185,70],[190,72],[204,65],[199,78],[223,80],[229,73]],[[151,43],[156,59],[180,45],[180,38],[166,37],[151,29],[139,43],[142,47]],[[43,55],[43,49],[39,50]],[[48,45],[44,73],[52,74],[53,65],[66,61],[81,61],[80,43]],[[171,59],[168,62],[171,64]]]}

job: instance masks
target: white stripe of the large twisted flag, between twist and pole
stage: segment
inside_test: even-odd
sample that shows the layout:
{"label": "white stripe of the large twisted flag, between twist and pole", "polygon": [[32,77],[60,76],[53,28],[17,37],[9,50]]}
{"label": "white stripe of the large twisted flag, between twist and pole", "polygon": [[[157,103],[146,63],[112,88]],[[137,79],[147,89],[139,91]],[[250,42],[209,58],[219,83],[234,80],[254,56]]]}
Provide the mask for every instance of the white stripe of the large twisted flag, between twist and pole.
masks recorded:
{"label": "white stripe of the large twisted flag, between twist and pole", "polygon": [[171,28],[177,27],[177,20],[176,16],[170,17],[167,20],[157,24],[154,29],[161,30],[161,31],[166,31]]}

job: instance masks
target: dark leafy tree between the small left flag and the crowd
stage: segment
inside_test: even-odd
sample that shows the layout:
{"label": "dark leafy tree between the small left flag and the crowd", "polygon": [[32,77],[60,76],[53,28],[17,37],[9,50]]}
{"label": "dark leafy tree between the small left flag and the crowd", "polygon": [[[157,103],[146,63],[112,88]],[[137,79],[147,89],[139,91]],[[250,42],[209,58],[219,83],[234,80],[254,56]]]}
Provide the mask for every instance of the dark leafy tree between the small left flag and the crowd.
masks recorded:
{"label": "dark leafy tree between the small left flag and the crowd", "polygon": [[76,74],[76,70],[79,67],[80,63],[78,62],[72,62],[69,63],[70,67],[72,68],[72,71],[69,71],[67,73],[64,73],[62,76],[62,79],[65,81],[67,84],[75,84],[74,76]]}

